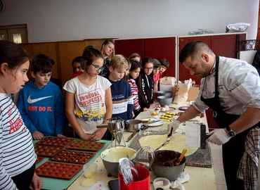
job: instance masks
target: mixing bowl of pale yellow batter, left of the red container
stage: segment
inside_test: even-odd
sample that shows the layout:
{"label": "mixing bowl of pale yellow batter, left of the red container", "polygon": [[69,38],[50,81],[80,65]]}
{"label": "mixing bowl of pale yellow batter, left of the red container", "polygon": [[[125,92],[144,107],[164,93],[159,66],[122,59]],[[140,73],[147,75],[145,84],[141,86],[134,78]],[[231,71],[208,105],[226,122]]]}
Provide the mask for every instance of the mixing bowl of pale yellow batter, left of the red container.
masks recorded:
{"label": "mixing bowl of pale yellow batter, left of the red container", "polygon": [[100,158],[103,161],[105,170],[107,170],[110,175],[118,177],[119,159],[129,157],[131,161],[134,161],[135,153],[136,151],[133,148],[119,146],[106,149],[100,154]]}

